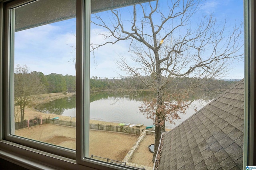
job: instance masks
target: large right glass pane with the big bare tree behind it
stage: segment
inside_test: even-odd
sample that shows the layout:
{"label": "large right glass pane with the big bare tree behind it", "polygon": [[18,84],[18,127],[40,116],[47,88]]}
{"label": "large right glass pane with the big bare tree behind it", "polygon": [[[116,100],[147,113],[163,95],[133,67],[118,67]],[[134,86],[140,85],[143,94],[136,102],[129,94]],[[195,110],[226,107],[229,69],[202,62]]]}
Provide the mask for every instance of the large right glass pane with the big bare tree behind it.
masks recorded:
{"label": "large right glass pane with the big bare tree behind it", "polygon": [[170,131],[162,154],[175,162],[160,160],[159,169],[170,166],[162,162],[212,169],[212,161],[218,169],[228,160],[240,167],[243,2],[98,5],[92,2],[90,158],[152,169],[162,133]]}

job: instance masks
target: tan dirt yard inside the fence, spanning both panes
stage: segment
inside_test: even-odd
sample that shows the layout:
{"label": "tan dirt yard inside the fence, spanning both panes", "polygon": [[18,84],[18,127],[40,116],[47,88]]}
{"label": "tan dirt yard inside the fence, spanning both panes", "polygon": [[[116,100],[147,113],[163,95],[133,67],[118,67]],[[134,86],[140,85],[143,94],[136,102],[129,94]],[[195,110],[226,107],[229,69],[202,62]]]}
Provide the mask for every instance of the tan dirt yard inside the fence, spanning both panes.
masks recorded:
{"label": "tan dirt yard inside the fence, spanning both panes", "polygon": [[[60,147],[76,149],[76,128],[44,124],[31,129],[19,129],[15,135]],[[138,135],[90,130],[89,154],[122,161],[134,145]]]}

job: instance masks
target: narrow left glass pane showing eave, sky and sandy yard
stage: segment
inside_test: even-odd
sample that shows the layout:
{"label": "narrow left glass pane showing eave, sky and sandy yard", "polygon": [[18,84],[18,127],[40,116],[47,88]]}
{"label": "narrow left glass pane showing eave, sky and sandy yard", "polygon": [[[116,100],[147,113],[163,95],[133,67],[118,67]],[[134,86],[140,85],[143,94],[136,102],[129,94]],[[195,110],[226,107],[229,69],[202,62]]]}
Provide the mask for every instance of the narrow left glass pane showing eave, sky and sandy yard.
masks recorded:
{"label": "narrow left glass pane showing eave, sky and sandy yard", "polygon": [[12,135],[76,149],[76,1],[12,9]]}

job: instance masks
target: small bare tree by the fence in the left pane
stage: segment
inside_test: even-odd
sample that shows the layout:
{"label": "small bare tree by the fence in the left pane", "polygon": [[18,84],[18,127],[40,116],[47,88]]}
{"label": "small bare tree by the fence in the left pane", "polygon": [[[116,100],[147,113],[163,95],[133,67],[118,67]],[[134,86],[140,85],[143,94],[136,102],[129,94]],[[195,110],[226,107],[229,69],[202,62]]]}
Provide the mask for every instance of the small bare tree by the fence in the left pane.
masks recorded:
{"label": "small bare tree by the fence in the left pane", "polygon": [[46,92],[38,74],[29,72],[26,65],[17,64],[14,71],[14,100],[20,106],[20,121],[24,121],[25,107],[30,104],[32,95]]}

